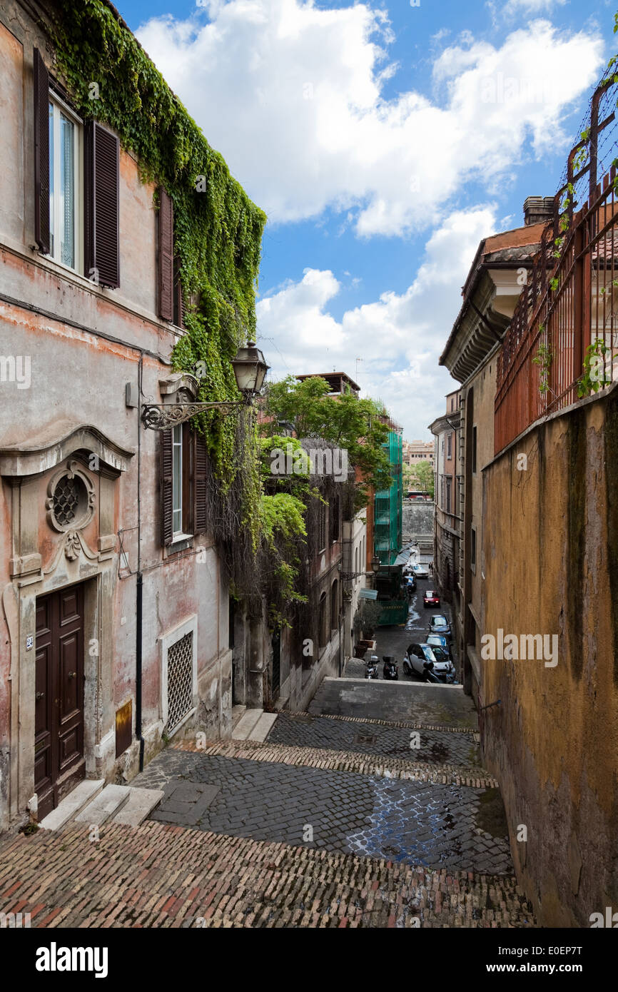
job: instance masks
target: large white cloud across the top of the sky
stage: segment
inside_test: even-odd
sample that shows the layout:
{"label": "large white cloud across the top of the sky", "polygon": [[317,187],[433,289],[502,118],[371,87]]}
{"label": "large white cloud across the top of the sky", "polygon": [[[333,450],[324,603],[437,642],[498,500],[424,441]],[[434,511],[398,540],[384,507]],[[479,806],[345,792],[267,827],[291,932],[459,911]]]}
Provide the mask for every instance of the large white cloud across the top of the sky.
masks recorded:
{"label": "large white cloud across the top of the sky", "polygon": [[202,6],[207,22],[154,18],[137,34],[208,141],[271,221],[330,206],[352,211],[364,236],[433,222],[469,177],[493,181],[518,162],[529,135],[535,154],[556,145],[565,108],[601,63],[598,36],[566,37],[547,21],[498,48],[466,32],[436,59],[432,99],[386,99],[390,27],[369,2]]}

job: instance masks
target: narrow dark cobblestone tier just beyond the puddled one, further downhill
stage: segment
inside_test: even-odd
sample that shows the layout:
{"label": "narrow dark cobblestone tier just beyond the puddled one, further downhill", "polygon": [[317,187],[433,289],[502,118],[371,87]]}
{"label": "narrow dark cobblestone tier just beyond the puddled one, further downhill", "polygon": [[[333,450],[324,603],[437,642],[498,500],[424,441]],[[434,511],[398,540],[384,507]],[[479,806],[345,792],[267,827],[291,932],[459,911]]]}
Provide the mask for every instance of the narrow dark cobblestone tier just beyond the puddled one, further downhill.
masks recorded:
{"label": "narrow dark cobblestone tier just beyond the puddled one, further downhill", "polygon": [[407,727],[380,726],[360,720],[333,720],[328,716],[309,713],[280,713],[268,740],[277,744],[414,758],[440,765],[479,765],[478,745],[473,735],[466,732],[426,729],[415,731]]}

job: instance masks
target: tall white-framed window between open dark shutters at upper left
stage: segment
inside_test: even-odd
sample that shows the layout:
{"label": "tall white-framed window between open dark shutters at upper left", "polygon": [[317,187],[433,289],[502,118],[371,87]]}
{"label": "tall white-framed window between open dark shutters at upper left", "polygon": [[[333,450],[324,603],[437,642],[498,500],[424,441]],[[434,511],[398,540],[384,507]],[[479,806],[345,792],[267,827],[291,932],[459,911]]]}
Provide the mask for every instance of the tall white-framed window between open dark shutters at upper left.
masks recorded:
{"label": "tall white-framed window between open dark shutters at upper left", "polygon": [[79,200],[81,127],[56,97],[50,99],[50,255],[81,270]]}

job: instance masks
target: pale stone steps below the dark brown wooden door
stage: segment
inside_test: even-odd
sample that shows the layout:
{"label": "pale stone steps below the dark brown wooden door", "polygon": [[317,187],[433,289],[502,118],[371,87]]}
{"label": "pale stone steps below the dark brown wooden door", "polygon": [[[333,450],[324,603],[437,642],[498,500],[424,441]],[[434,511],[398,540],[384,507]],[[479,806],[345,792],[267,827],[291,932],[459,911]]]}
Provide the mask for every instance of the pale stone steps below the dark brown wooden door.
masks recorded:
{"label": "pale stone steps below the dark brown wooden door", "polygon": [[72,821],[95,826],[108,821],[138,826],[161,803],[163,796],[160,789],[106,786],[104,779],[84,779],[41,820],[39,826],[45,830],[60,830]]}

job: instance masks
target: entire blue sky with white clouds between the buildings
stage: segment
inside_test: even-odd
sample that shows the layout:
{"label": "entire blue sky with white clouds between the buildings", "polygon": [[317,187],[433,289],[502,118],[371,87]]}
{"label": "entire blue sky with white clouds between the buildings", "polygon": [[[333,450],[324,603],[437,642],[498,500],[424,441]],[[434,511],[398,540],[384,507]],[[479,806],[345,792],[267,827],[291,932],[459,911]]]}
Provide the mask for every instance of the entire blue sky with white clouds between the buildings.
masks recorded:
{"label": "entire blue sky with white clouds between the buildings", "polygon": [[404,436],[427,437],[478,242],[556,191],[614,53],[612,5],[117,6],[269,215],[258,328],[273,376],[343,369]]}

